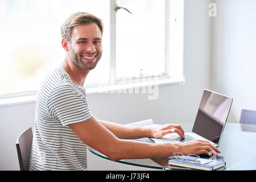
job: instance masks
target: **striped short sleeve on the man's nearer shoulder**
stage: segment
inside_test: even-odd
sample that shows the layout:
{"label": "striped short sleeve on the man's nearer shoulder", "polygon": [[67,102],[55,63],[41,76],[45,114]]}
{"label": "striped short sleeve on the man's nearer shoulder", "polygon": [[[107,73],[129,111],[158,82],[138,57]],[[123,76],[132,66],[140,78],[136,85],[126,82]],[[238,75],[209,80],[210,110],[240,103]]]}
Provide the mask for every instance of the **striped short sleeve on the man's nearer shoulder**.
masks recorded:
{"label": "striped short sleeve on the man's nearer shoulder", "polygon": [[70,85],[55,88],[48,97],[48,112],[63,126],[92,118],[86,97]]}

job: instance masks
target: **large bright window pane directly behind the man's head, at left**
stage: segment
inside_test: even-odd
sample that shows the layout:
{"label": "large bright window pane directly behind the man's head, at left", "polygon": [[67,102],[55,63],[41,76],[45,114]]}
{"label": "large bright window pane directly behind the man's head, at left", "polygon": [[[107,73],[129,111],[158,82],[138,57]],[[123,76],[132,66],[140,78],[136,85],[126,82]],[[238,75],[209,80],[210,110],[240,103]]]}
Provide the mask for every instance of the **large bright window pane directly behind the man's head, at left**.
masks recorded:
{"label": "large bright window pane directly behind the man's head, at left", "polygon": [[92,74],[97,75],[94,82],[108,81],[109,70],[105,69],[109,67],[108,7],[110,2],[102,0],[0,0],[0,94],[38,90],[40,80],[64,59],[60,27],[77,11],[101,17],[105,24],[104,55]]}

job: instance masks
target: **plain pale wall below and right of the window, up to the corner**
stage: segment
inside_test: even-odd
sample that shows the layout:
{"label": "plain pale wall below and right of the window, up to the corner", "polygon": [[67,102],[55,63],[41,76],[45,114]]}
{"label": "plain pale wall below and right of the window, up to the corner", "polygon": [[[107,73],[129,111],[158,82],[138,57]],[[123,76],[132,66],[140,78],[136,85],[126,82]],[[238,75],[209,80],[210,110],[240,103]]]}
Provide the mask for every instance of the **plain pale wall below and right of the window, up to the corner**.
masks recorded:
{"label": "plain pale wall below and right of the window, up to the corner", "polygon": [[[184,75],[185,85],[159,87],[158,100],[147,100],[147,94],[88,95],[90,110],[99,119],[129,123],[152,118],[156,123],[193,122],[204,88],[210,88],[210,35],[208,16],[210,1],[185,1]],[[0,170],[18,170],[15,140],[19,133],[34,123],[35,102],[0,106]],[[90,170],[137,170],[100,159],[88,152]],[[144,169],[148,170],[148,169]]]}

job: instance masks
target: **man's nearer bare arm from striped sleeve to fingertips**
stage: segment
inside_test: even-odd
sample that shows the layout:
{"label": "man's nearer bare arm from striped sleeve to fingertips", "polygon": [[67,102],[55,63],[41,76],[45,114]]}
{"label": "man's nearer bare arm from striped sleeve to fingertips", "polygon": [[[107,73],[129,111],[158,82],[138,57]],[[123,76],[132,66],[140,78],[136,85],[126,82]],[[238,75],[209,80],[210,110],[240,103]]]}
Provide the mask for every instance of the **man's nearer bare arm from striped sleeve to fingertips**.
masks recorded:
{"label": "man's nearer bare arm from striped sleeve to fingertips", "polygon": [[208,154],[210,151],[216,151],[216,147],[212,149],[214,146],[210,146],[210,143],[203,144],[202,142],[204,148],[201,150],[199,142],[193,144],[187,143],[189,150],[184,150],[183,144],[180,143],[155,144],[119,139],[95,118],[91,118],[85,122],[71,124],[69,127],[82,142],[112,160],[160,158],[171,156],[176,151],[181,151],[184,155],[189,154],[188,152],[191,151],[196,152],[197,150],[197,153],[194,152],[193,154],[198,154],[198,152],[201,152],[200,154]]}

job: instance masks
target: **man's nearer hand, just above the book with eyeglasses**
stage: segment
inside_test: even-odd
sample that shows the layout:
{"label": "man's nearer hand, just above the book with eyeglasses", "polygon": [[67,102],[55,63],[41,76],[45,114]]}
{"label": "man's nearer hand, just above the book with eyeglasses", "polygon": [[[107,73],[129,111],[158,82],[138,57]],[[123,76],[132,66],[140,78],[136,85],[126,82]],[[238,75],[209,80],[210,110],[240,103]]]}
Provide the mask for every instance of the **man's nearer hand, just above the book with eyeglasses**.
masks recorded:
{"label": "man's nearer hand, just above the book with eyeglasses", "polygon": [[207,155],[217,155],[220,154],[221,151],[218,150],[212,143],[205,140],[192,140],[190,142],[180,144],[180,150],[177,152],[181,152],[184,155],[188,154],[207,154]]}

